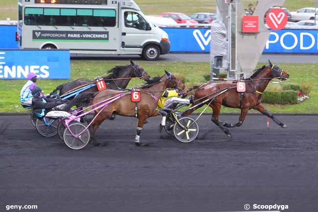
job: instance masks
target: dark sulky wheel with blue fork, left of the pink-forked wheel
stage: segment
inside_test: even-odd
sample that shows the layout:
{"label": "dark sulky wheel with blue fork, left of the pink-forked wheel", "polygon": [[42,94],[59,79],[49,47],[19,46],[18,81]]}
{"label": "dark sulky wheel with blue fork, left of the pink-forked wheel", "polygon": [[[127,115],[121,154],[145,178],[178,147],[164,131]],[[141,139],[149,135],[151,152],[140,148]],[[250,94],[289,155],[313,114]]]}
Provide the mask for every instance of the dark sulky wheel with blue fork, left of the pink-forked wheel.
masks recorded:
{"label": "dark sulky wheel with blue fork, left of the pink-forked wheel", "polygon": [[57,134],[58,124],[59,121],[57,119],[44,117],[42,120],[36,120],[35,127],[41,136],[53,137]]}

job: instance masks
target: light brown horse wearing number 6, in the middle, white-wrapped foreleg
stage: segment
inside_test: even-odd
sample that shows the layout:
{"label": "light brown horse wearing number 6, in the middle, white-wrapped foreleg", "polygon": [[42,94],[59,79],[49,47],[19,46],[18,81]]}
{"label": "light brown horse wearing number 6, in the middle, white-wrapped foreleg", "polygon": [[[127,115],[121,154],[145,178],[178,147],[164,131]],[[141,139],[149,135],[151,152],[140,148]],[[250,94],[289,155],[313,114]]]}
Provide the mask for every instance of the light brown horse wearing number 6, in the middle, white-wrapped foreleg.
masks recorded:
{"label": "light brown horse wearing number 6, in the middle, white-wrapped foreleg", "polygon": [[[101,113],[96,117],[96,114],[100,112],[100,109],[95,110],[95,119],[92,122],[92,140],[94,144],[94,132],[98,126],[113,114],[118,114],[125,117],[137,117],[138,126],[136,130],[135,144],[138,146],[147,146],[147,142],[140,142],[140,133],[143,124],[150,117],[158,116],[157,103],[161,95],[167,88],[181,88],[184,89],[182,81],[177,79],[173,74],[165,71],[165,75],[162,77],[155,77],[153,80],[149,80],[147,84],[138,88],[140,91],[140,101],[138,103],[132,102],[131,92],[122,93],[115,90],[104,90],[99,92],[94,98],[92,103],[96,104],[112,96],[123,94],[118,100],[110,103]],[[137,110],[136,110],[137,107]]]}

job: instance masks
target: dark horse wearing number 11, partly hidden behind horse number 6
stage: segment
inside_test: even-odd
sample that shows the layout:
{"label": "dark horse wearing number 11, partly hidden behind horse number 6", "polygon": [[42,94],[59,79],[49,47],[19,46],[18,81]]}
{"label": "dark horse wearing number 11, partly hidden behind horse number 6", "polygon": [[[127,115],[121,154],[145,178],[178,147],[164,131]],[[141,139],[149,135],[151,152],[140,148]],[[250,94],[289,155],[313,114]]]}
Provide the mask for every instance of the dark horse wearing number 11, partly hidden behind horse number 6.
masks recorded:
{"label": "dark horse wearing number 11, partly hidden behind horse number 6", "polygon": [[[108,71],[111,73],[109,75],[101,76],[105,80],[105,83],[109,83],[109,89],[125,89],[131,80],[132,77],[141,77],[142,79],[150,79],[149,74],[145,71],[141,66],[138,66],[132,60],[130,60],[130,64],[127,66],[116,66],[112,70]],[[120,78],[128,78],[128,79],[120,79]],[[114,80],[118,79],[118,80]],[[86,85],[88,83],[94,82],[94,80],[86,80],[86,79],[76,79],[69,82],[66,82],[62,85],[57,86],[50,95],[54,95],[59,91],[60,95],[71,91],[79,86]],[[98,92],[97,86],[93,86],[85,92]]]}

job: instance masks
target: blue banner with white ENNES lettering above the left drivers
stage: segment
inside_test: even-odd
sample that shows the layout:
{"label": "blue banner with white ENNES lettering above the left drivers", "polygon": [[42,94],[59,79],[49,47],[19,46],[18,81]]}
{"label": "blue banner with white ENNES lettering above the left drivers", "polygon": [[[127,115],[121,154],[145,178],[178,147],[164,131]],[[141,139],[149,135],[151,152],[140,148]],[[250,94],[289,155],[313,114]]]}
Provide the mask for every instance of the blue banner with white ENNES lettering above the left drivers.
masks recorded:
{"label": "blue banner with white ENNES lettering above the left drivers", "polygon": [[40,79],[69,79],[69,51],[0,49],[0,79],[25,79],[29,72]]}

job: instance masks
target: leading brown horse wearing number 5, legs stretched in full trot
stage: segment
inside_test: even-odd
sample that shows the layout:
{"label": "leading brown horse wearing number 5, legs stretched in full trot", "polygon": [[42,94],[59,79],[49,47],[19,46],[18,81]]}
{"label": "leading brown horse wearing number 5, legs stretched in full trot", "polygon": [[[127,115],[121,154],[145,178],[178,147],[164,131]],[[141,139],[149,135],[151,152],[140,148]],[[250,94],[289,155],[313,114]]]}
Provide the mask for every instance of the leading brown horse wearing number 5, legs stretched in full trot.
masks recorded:
{"label": "leading brown horse wearing number 5, legs stretched in full trot", "polygon": [[[282,123],[277,118],[275,118],[273,114],[266,110],[261,104],[262,94],[265,91],[269,82],[273,78],[286,80],[289,78],[289,74],[283,71],[278,66],[273,65],[271,61],[269,61],[269,66],[264,65],[262,68],[255,71],[255,73],[249,79],[245,80],[245,93],[238,93],[236,91],[236,83],[233,82],[208,82],[204,85],[201,85],[195,92],[195,104],[199,104],[204,100],[205,104],[209,104],[211,101],[209,99],[211,99],[213,96],[216,96],[209,105],[213,110],[211,120],[213,123],[219,126],[223,130],[223,132],[227,134],[228,137],[231,137],[231,134],[227,128],[241,126],[250,109],[258,110],[262,114],[272,118],[273,121],[276,124],[280,125],[282,128],[286,128],[286,124]],[[219,122],[219,115],[221,112],[222,105],[230,108],[241,109],[241,114],[239,117],[239,121],[237,123],[234,124]],[[190,108],[190,110],[186,111],[184,114],[182,114],[182,116],[188,116],[196,109],[198,108]]]}

